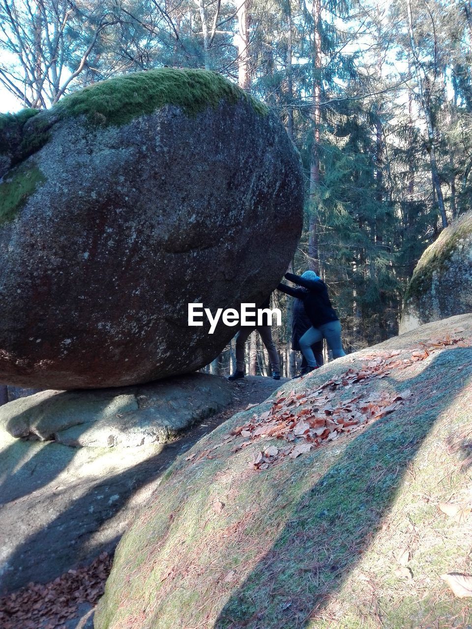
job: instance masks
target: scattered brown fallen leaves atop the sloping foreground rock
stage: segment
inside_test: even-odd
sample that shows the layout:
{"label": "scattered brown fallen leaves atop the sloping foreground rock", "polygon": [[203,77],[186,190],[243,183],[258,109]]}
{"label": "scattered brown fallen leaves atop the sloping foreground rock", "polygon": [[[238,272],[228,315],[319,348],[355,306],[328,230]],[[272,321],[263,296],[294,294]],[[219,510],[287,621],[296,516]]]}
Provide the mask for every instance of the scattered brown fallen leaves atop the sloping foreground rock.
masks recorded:
{"label": "scattered brown fallen leaves atop the sloping foreground rock", "polygon": [[[317,391],[291,391],[286,396],[277,399],[271,409],[254,415],[252,420],[231,431],[222,443],[213,448],[194,452],[187,460],[213,459],[215,450],[227,445],[235,438],[242,438],[231,448],[237,452],[242,448],[259,442],[262,438],[276,438],[281,440],[279,447],[269,445],[254,453],[249,464],[254,469],[264,470],[285,457],[296,459],[300,454],[310,452],[323,443],[332,442],[343,434],[355,433],[375,420],[385,417],[400,408],[412,395],[411,391],[388,394],[386,392],[368,392],[365,387],[373,379],[388,376],[393,369],[405,369],[415,362],[425,360],[439,349],[457,345],[469,347],[457,330],[455,335],[446,338],[434,338],[429,342],[419,343],[413,347],[410,357],[400,358],[401,351],[388,355],[366,356],[366,362],[361,369],[348,369],[337,379],[330,379],[322,384]],[[357,387],[356,387],[357,385]],[[354,387],[356,391],[354,391]],[[355,393],[347,401],[334,402],[337,391],[352,389]],[[357,390],[358,389],[358,390]],[[247,408],[251,408],[252,405]]]}

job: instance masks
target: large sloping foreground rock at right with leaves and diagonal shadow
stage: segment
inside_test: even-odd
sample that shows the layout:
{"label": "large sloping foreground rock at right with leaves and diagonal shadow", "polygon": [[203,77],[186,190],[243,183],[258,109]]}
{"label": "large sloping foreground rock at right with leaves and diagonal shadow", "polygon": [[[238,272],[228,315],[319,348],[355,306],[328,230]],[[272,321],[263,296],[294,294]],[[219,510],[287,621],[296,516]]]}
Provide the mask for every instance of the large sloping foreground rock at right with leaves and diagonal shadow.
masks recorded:
{"label": "large sloping foreground rock at right with leaves and diagonal shadow", "polygon": [[[468,625],[439,576],[471,574],[472,316],[330,362],[274,396],[168,470],[121,538],[95,628],[360,627],[372,615],[371,626]],[[378,401],[393,409],[377,415]],[[264,436],[274,408],[295,416],[291,439]],[[349,433],[358,415],[371,419]],[[348,433],[281,456],[303,422],[336,418]],[[262,451],[278,459],[255,469]]]}

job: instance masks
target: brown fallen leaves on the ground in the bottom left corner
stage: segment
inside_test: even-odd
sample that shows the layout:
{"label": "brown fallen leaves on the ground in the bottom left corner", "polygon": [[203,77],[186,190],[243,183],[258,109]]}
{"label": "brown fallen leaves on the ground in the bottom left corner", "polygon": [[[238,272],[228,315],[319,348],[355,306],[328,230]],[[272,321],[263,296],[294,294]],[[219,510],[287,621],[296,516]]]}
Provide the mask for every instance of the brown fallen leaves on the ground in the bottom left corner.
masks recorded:
{"label": "brown fallen leaves on the ground in the bottom left corner", "polygon": [[[2,629],[59,629],[73,618],[80,603],[95,604],[104,592],[111,557],[102,553],[91,565],[69,570],[54,581],[28,587],[0,598]],[[47,618],[47,623],[43,619]]]}

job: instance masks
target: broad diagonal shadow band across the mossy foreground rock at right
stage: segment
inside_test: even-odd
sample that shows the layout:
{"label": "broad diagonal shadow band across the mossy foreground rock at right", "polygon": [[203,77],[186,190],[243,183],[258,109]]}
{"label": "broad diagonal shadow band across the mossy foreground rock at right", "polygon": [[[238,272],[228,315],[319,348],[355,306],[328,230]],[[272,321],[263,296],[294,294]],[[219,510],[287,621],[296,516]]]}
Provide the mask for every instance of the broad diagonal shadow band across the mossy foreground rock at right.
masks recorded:
{"label": "broad diagonal shadow band across the mossy foreground rock at right", "polygon": [[[471,357],[471,350],[456,348],[401,386],[390,379],[397,390],[412,389],[414,406],[402,411],[400,421],[373,423],[301,493],[276,542],[230,595],[215,629],[315,626],[310,618],[345,584],[373,542],[437,418],[471,381]],[[464,367],[461,378],[458,364]],[[316,453],[306,458],[296,482],[309,482],[316,459]]]}

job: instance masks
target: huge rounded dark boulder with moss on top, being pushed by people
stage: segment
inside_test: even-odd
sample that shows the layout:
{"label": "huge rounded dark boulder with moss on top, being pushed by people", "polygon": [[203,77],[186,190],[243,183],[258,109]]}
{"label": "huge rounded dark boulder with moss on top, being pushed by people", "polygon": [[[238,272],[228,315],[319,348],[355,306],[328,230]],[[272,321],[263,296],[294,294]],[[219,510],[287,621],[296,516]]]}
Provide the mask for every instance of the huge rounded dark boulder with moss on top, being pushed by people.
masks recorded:
{"label": "huge rounded dark boulder with moss on top, being pushed by people", "polygon": [[281,123],[220,75],[174,69],[28,116],[0,120],[0,382],[123,386],[208,364],[235,328],[189,327],[188,303],[261,303],[300,237]]}

